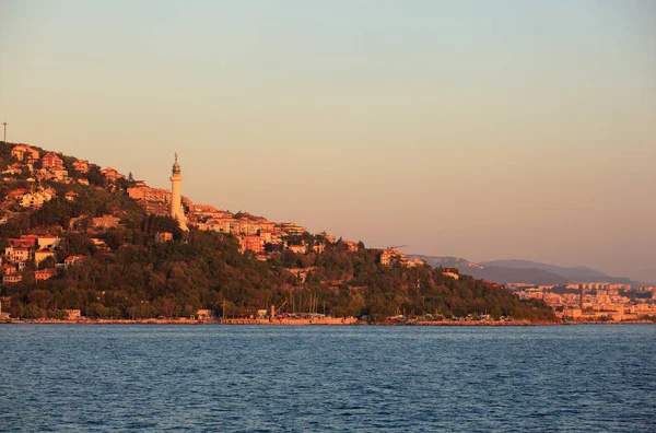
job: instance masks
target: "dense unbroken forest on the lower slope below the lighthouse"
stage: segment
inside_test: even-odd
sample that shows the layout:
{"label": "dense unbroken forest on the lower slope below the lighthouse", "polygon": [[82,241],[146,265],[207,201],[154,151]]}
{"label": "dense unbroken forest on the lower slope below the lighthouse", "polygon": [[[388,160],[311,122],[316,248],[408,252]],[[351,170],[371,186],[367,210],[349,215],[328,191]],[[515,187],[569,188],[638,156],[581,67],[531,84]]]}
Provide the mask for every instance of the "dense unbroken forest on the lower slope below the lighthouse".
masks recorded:
{"label": "dense unbroken forest on the lower slope below the lighthouse", "polygon": [[[153,225],[165,223],[149,220],[154,219],[144,219],[136,230],[99,234],[109,251],[96,248],[90,234],[68,233],[58,258],[87,259],[47,281],[4,286],[12,314],[57,317],[58,309],[80,308],[89,317],[144,318],[212,308],[218,315],[242,317],[285,301],[286,311],[304,312],[317,299],[319,313],[375,319],[426,313],[552,318],[543,303],[519,301],[481,280],[455,280],[430,267],[382,266],[376,250],[349,253],[337,244],[321,255],[286,250],[260,261],[241,254],[233,236],[219,233],[192,231],[184,238],[178,233],[177,241],[155,244]],[[301,283],[286,267],[307,268],[306,281]]]}

